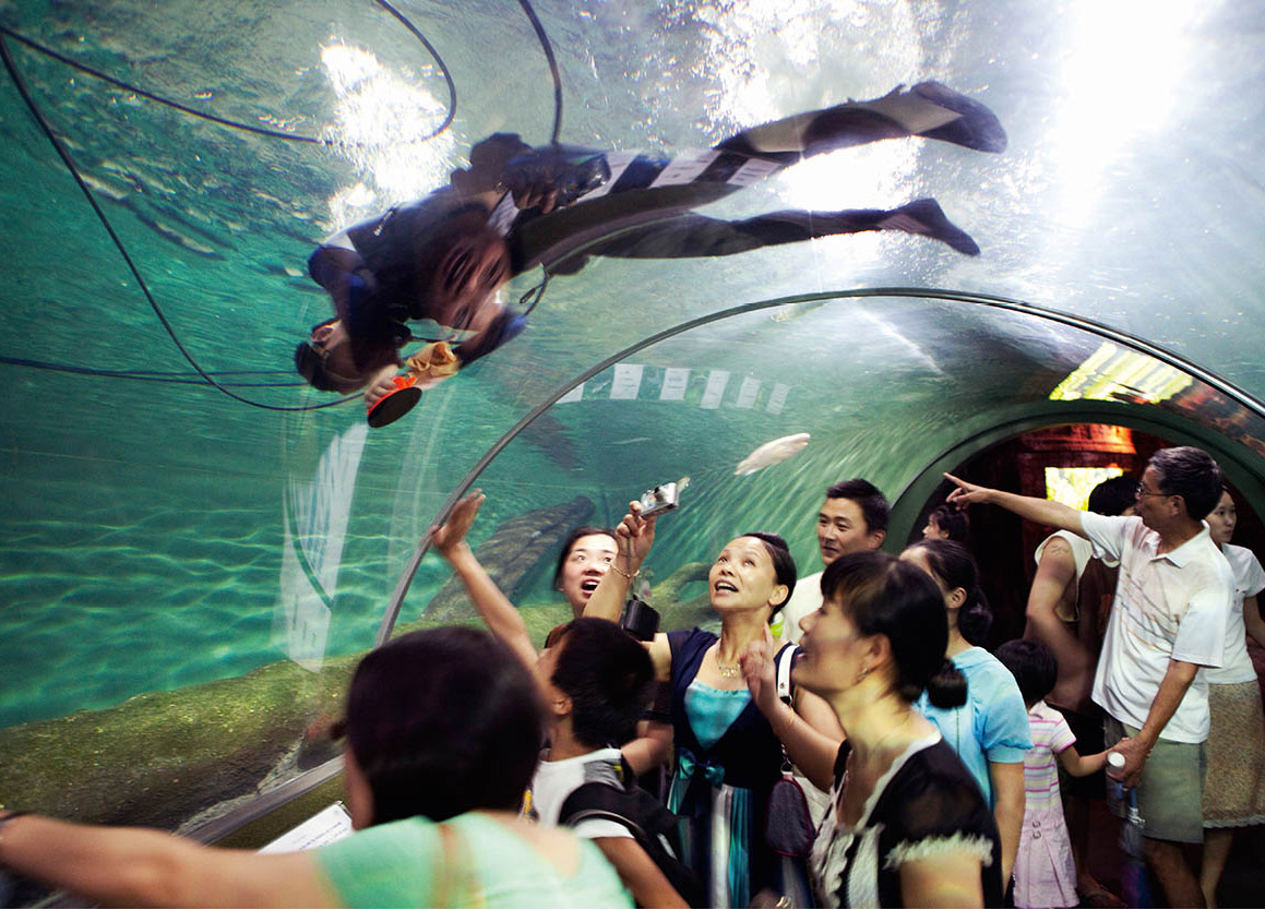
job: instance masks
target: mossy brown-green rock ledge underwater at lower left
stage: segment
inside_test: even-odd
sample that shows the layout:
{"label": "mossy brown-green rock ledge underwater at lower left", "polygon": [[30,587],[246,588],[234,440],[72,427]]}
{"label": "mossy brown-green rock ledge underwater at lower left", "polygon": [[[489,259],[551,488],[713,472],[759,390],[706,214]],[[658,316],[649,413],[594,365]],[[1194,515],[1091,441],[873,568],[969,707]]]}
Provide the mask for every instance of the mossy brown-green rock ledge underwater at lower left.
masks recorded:
{"label": "mossy brown-green rock ledge underwater at lower left", "polygon": [[336,712],[358,657],[290,661],[0,731],[0,799],[78,822],[175,829],[254,794],[310,718]]}

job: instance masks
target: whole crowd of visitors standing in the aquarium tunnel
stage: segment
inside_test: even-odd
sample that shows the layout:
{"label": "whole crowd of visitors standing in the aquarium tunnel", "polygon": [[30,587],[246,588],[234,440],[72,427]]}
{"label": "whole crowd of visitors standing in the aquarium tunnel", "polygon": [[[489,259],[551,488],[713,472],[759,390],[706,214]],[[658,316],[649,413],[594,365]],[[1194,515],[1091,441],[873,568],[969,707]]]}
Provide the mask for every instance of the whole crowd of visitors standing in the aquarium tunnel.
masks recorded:
{"label": "whole crowd of visitors standing in the aquarium tunnel", "polygon": [[966,526],[882,552],[861,479],[826,492],[821,573],[765,531],[721,549],[719,632],[617,623],[654,543],[639,502],[576,528],[554,575],[573,619],[538,648],[466,542],[476,492],[433,543],[488,631],[362,660],[339,724],[353,834],[261,854],[0,811],[0,866],[135,906],[1122,906],[1084,808],[1132,791],[1168,905],[1213,906],[1233,833],[1265,822],[1245,648],[1265,571],[1230,543],[1219,468],[1163,449],[1084,512],[946,476],[950,511],[1058,528],[996,653]]}

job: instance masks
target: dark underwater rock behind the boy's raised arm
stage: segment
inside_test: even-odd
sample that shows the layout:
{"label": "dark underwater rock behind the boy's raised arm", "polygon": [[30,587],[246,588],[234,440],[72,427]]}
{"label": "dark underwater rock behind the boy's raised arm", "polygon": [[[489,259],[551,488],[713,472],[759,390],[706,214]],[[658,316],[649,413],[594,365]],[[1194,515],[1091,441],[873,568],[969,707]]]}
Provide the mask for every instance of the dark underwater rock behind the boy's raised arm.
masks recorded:
{"label": "dark underwater rock behind the boy's raised arm", "polygon": [[[511,602],[519,585],[543,559],[557,554],[558,546],[572,528],[593,514],[593,500],[577,495],[569,503],[533,509],[500,525],[483,541],[474,555],[487,569],[496,585]],[[431,622],[477,616],[459,578],[450,578],[426,605],[425,617]]]}

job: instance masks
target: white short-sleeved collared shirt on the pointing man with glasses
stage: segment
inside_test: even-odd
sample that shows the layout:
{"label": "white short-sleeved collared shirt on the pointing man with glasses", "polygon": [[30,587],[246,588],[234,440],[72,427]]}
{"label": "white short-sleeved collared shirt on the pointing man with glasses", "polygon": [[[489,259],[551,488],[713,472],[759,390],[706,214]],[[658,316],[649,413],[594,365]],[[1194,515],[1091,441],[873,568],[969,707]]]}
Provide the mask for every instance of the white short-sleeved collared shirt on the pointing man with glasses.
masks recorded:
{"label": "white short-sleeved collared shirt on the pointing man with glasses", "polygon": [[[1169,660],[1221,666],[1235,578],[1208,527],[1156,555],[1160,536],[1137,517],[1080,513],[1089,541],[1120,560],[1116,603],[1107,623],[1093,699],[1117,720],[1142,727]],[[1200,670],[1161,739],[1208,738],[1208,680]]]}

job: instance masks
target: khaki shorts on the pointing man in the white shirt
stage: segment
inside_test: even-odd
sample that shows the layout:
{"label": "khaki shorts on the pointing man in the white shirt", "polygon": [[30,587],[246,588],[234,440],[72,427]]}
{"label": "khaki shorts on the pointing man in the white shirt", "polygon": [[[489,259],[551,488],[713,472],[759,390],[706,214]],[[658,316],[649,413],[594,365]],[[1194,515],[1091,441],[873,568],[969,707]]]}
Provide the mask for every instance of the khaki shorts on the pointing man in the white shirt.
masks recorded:
{"label": "khaki shorts on the pointing man in the white shirt", "polygon": [[[1117,743],[1137,736],[1137,727],[1103,718],[1106,742]],[[1109,746],[1108,746],[1109,748]],[[1142,814],[1144,834],[1154,840],[1203,843],[1203,779],[1208,768],[1203,743],[1160,739],[1142,766],[1137,784],[1137,810]],[[1125,818],[1127,801],[1117,800],[1107,786],[1107,804]]]}

